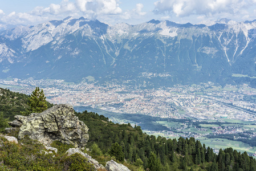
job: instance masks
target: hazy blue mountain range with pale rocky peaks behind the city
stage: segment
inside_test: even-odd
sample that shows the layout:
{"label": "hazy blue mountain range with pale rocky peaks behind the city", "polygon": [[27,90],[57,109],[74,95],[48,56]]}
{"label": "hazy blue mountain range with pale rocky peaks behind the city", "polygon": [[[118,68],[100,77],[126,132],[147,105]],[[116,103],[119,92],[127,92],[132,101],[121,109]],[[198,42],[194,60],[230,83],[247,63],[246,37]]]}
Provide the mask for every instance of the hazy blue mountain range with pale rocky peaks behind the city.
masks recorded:
{"label": "hazy blue mountain range with pale rocky peaks behind the city", "polygon": [[110,26],[68,17],[36,26],[1,24],[0,78],[255,86],[255,36],[256,20]]}

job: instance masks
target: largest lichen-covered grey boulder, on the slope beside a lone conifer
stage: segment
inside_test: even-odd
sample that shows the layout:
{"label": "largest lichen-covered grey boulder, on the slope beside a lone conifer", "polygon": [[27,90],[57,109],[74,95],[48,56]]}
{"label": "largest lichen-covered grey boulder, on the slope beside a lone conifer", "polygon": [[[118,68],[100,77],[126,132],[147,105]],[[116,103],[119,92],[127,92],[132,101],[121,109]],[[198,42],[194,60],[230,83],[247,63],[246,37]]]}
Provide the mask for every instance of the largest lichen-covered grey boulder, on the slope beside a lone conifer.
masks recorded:
{"label": "largest lichen-covered grey boulder, on the slope beside a lone conifer", "polygon": [[78,120],[71,105],[59,104],[42,113],[16,115],[15,119],[10,125],[20,125],[18,139],[28,135],[46,145],[58,140],[75,147],[85,146],[89,139],[88,127]]}

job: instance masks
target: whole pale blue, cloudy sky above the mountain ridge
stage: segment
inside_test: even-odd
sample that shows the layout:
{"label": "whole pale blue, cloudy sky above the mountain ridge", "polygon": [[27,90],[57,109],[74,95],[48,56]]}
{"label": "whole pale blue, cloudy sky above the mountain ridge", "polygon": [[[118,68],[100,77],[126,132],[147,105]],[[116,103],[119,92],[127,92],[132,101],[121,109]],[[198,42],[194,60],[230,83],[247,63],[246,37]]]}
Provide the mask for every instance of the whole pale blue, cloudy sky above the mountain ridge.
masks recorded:
{"label": "whole pale blue, cloudy sky above the mountain ridge", "polygon": [[51,20],[98,19],[137,25],[151,19],[206,23],[256,19],[256,0],[0,0],[0,23],[36,25]]}

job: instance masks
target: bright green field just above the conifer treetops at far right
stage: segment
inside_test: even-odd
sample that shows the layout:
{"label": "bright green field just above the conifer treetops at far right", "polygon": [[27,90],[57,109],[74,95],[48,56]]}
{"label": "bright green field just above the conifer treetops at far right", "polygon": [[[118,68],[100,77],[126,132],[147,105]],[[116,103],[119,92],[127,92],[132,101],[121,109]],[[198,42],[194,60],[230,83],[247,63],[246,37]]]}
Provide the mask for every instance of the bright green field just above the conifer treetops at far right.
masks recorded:
{"label": "bright green field just above the conifer treetops at far right", "polygon": [[206,146],[210,146],[214,149],[225,149],[225,148],[233,148],[238,152],[247,152],[247,153],[255,153],[256,147],[251,147],[249,144],[242,143],[241,141],[232,141],[227,139],[206,139],[200,140],[201,144],[205,144]]}

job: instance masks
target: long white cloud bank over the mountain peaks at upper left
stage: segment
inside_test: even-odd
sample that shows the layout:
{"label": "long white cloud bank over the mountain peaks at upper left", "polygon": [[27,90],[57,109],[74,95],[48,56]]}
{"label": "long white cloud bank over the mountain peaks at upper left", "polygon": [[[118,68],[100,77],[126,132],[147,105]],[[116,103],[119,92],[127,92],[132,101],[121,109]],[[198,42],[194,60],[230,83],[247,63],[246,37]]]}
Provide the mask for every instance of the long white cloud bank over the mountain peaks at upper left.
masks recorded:
{"label": "long white cloud bank over the mountain peaks at upper left", "polygon": [[[3,11],[0,10],[0,14],[2,13]],[[35,24],[51,19],[63,19],[68,15],[96,19],[101,16],[118,15],[121,13],[119,0],[76,0],[75,2],[63,0],[60,4],[51,3],[48,7],[35,7],[29,13],[13,12],[1,17],[0,21],[12,24],[31,22]]]}

